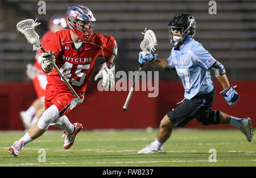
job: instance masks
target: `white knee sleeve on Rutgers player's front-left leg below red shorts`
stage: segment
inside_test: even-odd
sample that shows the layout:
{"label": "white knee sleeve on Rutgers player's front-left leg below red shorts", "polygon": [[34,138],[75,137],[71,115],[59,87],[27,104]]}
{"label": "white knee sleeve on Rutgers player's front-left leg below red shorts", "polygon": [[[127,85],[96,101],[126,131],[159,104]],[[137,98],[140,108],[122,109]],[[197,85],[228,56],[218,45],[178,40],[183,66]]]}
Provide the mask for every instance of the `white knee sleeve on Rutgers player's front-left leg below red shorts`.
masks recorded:
{"label": "white knee sleeve on Rutgers player's front-left leg below red shorts", "polygon": [[51,123],[59,117],[60,114],[57,106],[51,105],[46,111],[44,111],[42,117],[40,117],[38,121],[39,129],[47,130]]}

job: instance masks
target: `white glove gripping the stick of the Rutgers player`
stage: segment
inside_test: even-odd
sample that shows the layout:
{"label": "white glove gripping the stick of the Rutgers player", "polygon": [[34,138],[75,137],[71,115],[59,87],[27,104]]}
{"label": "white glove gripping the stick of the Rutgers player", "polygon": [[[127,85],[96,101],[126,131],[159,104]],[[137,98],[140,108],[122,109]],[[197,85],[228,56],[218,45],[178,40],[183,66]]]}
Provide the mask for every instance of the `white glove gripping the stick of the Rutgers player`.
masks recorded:
{"label": "white glove gripping the stick of the Rutgers player", "polygon": [[55,63],[55,56],[51,51],[42,53],[41,55],[42,63],[41,67],[45,73],[50,73],[53,71],[53,63]]}

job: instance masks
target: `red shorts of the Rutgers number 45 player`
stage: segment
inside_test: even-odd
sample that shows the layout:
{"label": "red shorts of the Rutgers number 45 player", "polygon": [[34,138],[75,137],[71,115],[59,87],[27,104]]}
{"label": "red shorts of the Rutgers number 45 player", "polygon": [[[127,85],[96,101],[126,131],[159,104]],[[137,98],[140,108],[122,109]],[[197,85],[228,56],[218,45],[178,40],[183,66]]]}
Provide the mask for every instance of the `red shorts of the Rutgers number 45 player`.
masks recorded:
{"label": "red shorts of the Rutgers number 45 player", "polygon": [[77,105],[77,100],[73,93],[61,90],[53,85],[47,85],[44,107],[48,109],[51,105],[57,106],[61,117],[68,114]]}

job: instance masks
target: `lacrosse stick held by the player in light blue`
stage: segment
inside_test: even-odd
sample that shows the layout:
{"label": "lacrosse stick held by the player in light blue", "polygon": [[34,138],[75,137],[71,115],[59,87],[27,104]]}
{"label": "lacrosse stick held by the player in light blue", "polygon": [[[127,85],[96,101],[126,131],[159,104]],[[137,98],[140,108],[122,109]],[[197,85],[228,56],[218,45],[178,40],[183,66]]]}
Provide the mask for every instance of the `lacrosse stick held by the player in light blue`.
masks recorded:
{"label": "lacrosse stick held by the player in light blue", "polygon": [[[144,33],[142,32],[142,34],[144,35],[144,38],[141,42],[141,45],[139,45],[139,47],[141,47],[142,49],[142,56],[144,57],[144,55],[147,55],[148,53],[151,53],[151,52],[154,52],[156,51],[155,49],[155,45],[156,44],[156,37],[155,37],[155,34],[152,30],[147,30],[145,28],[144,30]],[[138,69],[138,72],[134,78],[134,81],[133,81],[133,86],[131,86],[131,89],[130,89],[130,92],[126,98],[126,101],[125,101],[125,105],[123,105],[123,112],[126,111],[127,109],[127,106],[130,102],[130,99],[131,99],[131,95],[133,94],[133,91],[134,91],[134,88],[135,88],[135,82],[137,81],[137,78],[139,76],[139,73],[141,72],[142,70],[142,67],[143,67],[143,64],[140,64],[139,65],[139,69]]]}

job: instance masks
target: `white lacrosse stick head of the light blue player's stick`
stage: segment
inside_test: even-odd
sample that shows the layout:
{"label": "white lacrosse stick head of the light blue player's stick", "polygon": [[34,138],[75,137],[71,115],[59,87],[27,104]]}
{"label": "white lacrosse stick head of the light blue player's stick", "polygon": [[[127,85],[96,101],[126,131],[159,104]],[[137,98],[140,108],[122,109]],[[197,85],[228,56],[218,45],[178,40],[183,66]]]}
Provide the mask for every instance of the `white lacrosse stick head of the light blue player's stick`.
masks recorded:
{"label": "white lacrosse stick head of the light blue player's stick", "polygon": [[156,36],[152,30],[147,30],[145,28],[142,32],[144,38],[141,42],[142,56],[147,55],[148,53],[156,51],[155,45],[157,45]]}

